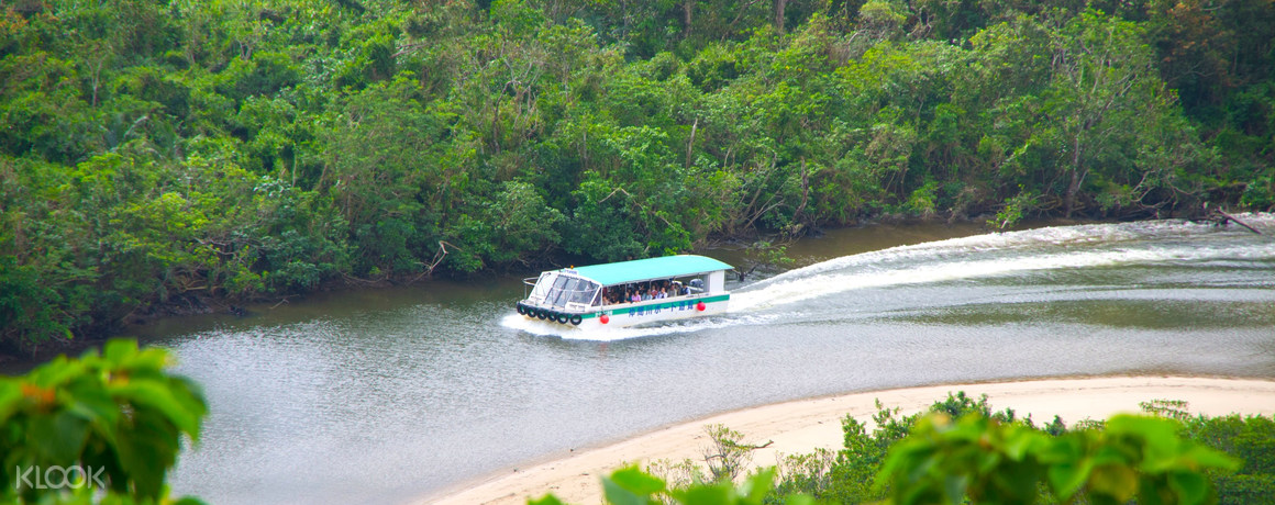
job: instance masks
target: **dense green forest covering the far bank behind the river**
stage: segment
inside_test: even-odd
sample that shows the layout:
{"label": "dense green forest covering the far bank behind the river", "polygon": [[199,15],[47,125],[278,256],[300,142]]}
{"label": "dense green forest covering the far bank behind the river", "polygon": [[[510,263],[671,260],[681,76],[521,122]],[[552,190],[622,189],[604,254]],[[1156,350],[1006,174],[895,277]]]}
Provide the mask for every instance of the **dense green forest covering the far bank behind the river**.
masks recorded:
{"label": "dense green forest covering the far bank behind the river", "polygon": [[1275,206],[1272,0],[17,0],[0,102],[8,351],[884,215]]}

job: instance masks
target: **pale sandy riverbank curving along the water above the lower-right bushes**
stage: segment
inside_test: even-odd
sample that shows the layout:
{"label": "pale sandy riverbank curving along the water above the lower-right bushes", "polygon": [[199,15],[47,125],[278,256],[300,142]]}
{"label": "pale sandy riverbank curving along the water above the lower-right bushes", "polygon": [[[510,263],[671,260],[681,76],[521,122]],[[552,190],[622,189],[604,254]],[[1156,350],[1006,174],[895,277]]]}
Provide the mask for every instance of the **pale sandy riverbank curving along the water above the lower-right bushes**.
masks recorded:
{"label": "pale sandy riverbank curving along the water above the lower-right bushes", "polygon": [[1223,416],[1275,415],[1275,380],[1195,377],[1099,377],[947,384],[849,393],[768,405],[682,422],[606,446],[571,449],[558,459],[510,468],[465,486],[416,500],[416,504],[524,504],[528,497],[553,492],[570,504],[602,501],[599,476],[627,463],[703,459],[705,425],[722,424],[745,435],[745,441],[770,443],[755,452],[756,466],[775,464],[784,454],[841,446],[840,419],[852,415],[871,422],[876,402],[908,415],[947,393],[987,394],[993,410],[1012,408],[1019,416],[1048,422],[1061,416],[1068,425],[1137,412],[1151,399],[1182,399],[1192,413]]}

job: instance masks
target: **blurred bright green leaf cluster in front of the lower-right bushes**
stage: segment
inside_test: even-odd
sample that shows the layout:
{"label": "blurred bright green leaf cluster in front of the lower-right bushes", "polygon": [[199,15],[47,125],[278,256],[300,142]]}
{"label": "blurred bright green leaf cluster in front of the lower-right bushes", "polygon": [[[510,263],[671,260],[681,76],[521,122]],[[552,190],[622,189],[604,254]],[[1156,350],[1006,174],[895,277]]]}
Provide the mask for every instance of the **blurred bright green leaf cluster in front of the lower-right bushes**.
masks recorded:
{"label": "blurred bright green leaf cluster in front of the lower-right bushes", "polygon": [[1206,504],[1205,471],[1238,460],[1178,436],[1177,421],[1116,416],[1102,430],[1049,436],[979,415],[923,417],[894,446],[878,486],[898,504]]}

